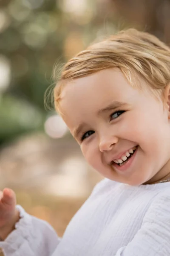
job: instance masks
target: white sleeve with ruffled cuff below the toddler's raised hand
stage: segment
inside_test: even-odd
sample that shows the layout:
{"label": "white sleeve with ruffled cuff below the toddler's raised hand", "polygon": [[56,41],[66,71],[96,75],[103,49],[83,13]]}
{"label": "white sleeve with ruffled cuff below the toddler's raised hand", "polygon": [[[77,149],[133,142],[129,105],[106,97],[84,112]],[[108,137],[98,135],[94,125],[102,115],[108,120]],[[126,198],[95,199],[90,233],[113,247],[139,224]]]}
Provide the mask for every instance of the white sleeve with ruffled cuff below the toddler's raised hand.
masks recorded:
{"label": "white sleeve with ruffled cuff below the toddler's raised hand", "polygon": [[20,220],[0,247],[5,256],[51,256],[59,244],[59,237],[46,221],[29,215],[17,205]]}

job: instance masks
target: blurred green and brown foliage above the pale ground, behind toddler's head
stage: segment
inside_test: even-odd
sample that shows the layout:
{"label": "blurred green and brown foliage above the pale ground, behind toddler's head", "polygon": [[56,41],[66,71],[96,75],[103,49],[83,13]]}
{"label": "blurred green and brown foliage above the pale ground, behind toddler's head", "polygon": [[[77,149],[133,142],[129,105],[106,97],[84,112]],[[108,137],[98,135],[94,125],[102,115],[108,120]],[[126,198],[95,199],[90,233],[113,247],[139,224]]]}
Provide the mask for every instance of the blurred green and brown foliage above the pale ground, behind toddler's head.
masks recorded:
{"label": "blurred green and brown foliage above the pale ground, behind toddler's head", "polygon": [[1,0],[0,143],[43,129],[43,97],[60,67],[125,27],[170,42],[170,0]]}

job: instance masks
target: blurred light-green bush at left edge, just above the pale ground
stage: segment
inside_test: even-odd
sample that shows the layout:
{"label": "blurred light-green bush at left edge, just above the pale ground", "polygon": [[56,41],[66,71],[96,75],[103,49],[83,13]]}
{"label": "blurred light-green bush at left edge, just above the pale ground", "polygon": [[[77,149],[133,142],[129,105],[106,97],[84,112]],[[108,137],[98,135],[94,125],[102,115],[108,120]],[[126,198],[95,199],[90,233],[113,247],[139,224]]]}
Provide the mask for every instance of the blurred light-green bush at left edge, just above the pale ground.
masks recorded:
{"label": "blurred light-green bush at left edge, just above the pale ground", "polygon": [[0,143],[3,143],[14,135],[40,129],[43,115],[29,102],[10,95],[0,99],[0,120]]}

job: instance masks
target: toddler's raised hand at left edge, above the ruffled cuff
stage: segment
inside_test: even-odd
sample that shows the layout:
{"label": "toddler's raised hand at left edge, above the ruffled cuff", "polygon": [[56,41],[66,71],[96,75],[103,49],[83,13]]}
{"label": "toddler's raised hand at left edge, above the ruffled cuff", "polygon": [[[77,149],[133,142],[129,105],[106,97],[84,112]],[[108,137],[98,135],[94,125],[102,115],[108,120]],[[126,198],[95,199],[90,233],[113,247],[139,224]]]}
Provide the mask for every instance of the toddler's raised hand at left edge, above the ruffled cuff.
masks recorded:
{"label": "toddler's raised hand at left edge, above the ruffled cuff", "polygon": [[16,196],[13,190],[0,191],[0,239],[4,240],[14,230],[15,223],[19,220],[16,209]]}

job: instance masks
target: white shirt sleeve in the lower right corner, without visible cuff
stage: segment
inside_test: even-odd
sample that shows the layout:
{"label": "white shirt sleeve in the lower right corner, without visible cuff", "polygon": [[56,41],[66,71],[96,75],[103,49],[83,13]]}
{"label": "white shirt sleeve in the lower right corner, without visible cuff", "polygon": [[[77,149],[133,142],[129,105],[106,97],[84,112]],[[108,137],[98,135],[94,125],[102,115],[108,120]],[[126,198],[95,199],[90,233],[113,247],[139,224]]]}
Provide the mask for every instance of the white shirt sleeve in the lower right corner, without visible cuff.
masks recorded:
{"label": "white shirt sleeve in the lower right corner, without visible cuff", "polygon": [[170,255],[170,189],[157,196],[144,216],[141,229],[115,256],[146,255]]}

